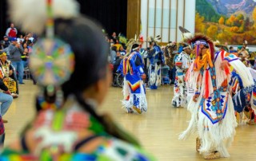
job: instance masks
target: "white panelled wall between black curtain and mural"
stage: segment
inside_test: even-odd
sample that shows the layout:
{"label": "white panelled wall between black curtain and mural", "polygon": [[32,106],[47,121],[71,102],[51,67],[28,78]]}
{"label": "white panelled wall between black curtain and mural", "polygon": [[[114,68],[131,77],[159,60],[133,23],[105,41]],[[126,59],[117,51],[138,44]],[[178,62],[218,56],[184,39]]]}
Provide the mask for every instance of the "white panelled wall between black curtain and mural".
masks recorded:
{"label": "white panelled wall between black curtain and mural", "polygon": [[[181,32],[178,26],[183,26],[183,17],[185,14],[184,27],[194,33],[195,17],[195,0],[142,0],[141,19],[142,19],[142,36],[146,37],[161,35],[162,42],[181,41]],[[163,2],[163,4],[162,4]],[[177,3],[178,2],[178,8]],[[186,11],[184,12],[184,2],[186,2]],[[149,6],[149,9],[147,9]],[[178,16],[176,11],[178,10]],[[155,13],[156,11],[156,13]],[[147,19],[147,12],[149,13]],[[154,22],[156,16],[156,22]],[[178,18],[176,24],[176,18]],[[169,24],[170,19],[170,24]],[[163,20],[163,22],[162,22]],[[147,26],[148,25],[148,26]],[[148,29],[148,30],[147,30]],[[155,30],[155,33],[154,33]],[[146,34],[146,31],[148,34]],[[176,38],[177,32],[177,38]],[[169,35],[170,34],[170,35]]]}

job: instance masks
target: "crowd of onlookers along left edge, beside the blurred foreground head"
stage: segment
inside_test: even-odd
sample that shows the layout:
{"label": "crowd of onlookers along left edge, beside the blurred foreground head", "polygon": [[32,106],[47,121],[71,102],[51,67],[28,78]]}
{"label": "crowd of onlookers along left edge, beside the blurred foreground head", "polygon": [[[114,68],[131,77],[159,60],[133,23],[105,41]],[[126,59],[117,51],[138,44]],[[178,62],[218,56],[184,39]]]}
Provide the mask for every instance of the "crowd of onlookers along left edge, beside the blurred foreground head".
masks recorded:
{"label": "crowd of onlookers along left edge, beside the blurred foreground head", "polygon": [[5,115],[13,98],[18,97],[18,84],[24,84],[24,71],[29,70],[28,59],[36,40],[33,33],[18,33],[14,23],[0,39],[0,117]]}

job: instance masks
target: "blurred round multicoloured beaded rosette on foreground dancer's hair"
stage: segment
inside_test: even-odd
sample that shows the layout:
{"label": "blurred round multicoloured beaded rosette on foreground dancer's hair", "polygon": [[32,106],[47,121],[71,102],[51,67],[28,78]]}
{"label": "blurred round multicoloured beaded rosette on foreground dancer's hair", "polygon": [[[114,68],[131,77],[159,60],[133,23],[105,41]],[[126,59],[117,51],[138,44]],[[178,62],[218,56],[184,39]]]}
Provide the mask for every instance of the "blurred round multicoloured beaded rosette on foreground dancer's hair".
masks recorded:
{"label": "blurred round multicoloured beaded rosette on foreground dancer's hair", "polygon": [[74,70],[74,53],[59,39],[42,39],[34,45],[30,69],[39,84],[62,84]]}

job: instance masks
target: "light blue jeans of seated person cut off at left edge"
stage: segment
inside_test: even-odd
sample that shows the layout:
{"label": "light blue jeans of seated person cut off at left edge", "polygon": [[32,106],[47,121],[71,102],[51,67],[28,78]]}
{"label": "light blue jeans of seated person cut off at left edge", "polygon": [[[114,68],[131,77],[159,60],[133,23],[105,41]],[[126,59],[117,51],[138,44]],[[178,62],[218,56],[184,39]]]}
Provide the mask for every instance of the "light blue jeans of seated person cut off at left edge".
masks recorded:
{"label": "light blue jeans of seated person cut off at left edge", "polygon": [[0,92],[0,102],[2,103],[0,106],[0,114],[4,116],[10,108],[10,104],[13,102],[13,96]]}

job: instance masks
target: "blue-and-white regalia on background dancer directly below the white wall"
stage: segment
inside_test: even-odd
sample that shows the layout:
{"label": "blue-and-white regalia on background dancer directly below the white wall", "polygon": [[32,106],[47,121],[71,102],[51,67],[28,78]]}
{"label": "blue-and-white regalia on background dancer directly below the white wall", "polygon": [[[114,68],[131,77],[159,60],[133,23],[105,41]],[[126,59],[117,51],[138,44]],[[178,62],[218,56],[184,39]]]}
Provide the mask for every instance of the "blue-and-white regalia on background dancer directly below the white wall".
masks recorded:
{"label": "blue-and-white regalia on background dancer directly below the white wall", "polygon": [[148,53],[150,60],[149,66],[149,85],[151,89],[157,89],[161,85],[161,64],[164,63],[164,57],[160,46],[154,45]]}

